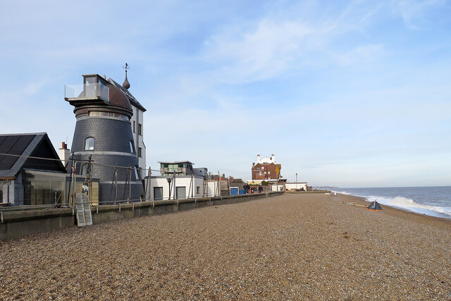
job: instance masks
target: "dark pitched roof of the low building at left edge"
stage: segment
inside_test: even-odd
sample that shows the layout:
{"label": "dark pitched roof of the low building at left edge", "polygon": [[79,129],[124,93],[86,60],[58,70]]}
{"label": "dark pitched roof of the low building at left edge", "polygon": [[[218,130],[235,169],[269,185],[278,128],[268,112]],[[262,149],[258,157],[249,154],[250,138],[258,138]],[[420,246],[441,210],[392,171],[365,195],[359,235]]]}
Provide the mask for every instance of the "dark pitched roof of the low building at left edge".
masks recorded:
{"label": "dark pitched roof of the low building at left edge", "polygon": [[[8,156],[15,155],[15,156]],[[28,158],[58,159],[58,161]],[[0,178],[15,178],[23,168],[66,173],[47,133],[0,135]]]}

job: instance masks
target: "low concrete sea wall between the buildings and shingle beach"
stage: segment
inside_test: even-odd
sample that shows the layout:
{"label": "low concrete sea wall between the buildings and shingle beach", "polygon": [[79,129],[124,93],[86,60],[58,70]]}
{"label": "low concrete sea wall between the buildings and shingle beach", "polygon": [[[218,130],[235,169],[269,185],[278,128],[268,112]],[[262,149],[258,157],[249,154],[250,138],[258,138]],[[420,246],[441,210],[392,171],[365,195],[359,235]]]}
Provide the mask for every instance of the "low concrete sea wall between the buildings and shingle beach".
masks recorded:
{"label": "low concrete sea wall between the buildings and shingle beach", "polygon": [[[168,214],[176,211],[197,209],[211,205],[235,204],[254,199],[275,197],[283,192],[267,192],[226,197],[202,197],[198,199],[171,199],[158,202],[136,202],[92,206],[92,223],[106,223],[119,219],[132,219],[137,216]],[[18,236],[53,231],[77,225],[72,208],[47,208],[22,211],[2,211],[0,240]]]}

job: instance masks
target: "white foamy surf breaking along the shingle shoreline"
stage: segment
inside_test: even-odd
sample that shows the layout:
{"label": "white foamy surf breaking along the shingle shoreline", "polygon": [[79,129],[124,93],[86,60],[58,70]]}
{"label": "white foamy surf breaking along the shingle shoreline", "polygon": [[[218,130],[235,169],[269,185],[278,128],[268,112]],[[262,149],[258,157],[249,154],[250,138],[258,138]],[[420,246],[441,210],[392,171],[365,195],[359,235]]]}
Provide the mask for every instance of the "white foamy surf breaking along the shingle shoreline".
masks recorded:
{"label": "white foamy surf breaking along the shingle shoreline", "polygon": [[419,214],[426,214],[438,217],[447,217],[451,219],[451,207],[444,206],[433,206],[420,204],[414,201],[414,199],[409,199],[407,197],[378,197],[374,195],[359,195],[359,193],[349,193],[346,191],[336,191],[343,195],[356,195],[358,197],[364,197],[368,202],[373,202],[377,200],[380,204],[385,204],[390,207],[396,207],[399,209],[404,209],[412,211]]}

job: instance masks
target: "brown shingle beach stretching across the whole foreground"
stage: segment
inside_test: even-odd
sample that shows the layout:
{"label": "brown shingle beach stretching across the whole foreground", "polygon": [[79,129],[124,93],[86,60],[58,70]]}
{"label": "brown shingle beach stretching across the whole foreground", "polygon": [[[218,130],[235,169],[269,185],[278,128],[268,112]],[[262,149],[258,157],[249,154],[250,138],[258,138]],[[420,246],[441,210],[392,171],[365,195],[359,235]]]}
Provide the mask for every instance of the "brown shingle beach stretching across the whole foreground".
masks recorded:
{"label": "brown shingle beach stretching across the whole foreground", "polygon": [[451,221],[285,194],[0,241],[0,298],[451,300]]}

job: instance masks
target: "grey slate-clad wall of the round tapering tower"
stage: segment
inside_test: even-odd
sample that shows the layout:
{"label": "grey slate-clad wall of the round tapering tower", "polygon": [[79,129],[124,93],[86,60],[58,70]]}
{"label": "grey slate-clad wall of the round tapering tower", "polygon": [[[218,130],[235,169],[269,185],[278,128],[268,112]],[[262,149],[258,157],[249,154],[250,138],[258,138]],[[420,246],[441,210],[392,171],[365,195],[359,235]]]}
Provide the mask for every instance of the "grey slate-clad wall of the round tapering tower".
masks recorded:
{"label": "grey slate-clad wall of the round tapering tower", "polygon": [[[85,151],[86,137],[94,137],[94,151]],[[75,159],[84,160],[87,160],[89,155],[92,154],[92,160],[94,161],[92,178],[99,178],[100,180],[100,202],[112,202],[114,200],[116,188],[111,184],[114,176],[114,168],[111,166],[137,166],[137,156],[130,151],[130,141],[132,140],[130,121],[99,116],[77,118],[71,152],[75,154]],[[99,166],[97,164],[107,166]],[[77,165],[78,173],[82,170],[81,167],[82,164]],[[128,187],[125,188],[125,181],[130,181],[129,177],[130,174],[127,168],[118,168],[118,200],[124,199],[124,190],[125,199],[128,199],[129,193]],[[131,183],[131,199],[140,199],[144,189],[140,179],[135,177],[134,170],[132,170]]]}

